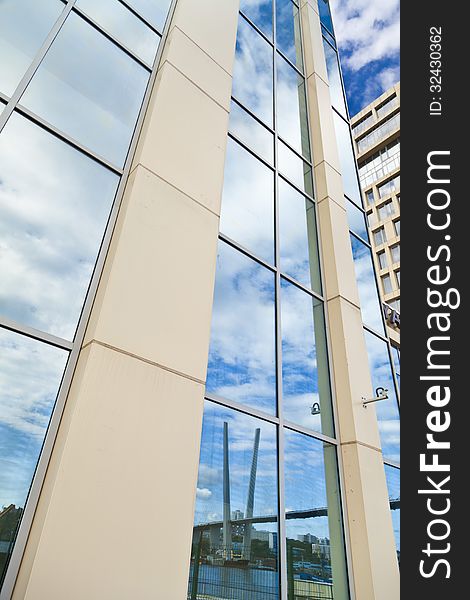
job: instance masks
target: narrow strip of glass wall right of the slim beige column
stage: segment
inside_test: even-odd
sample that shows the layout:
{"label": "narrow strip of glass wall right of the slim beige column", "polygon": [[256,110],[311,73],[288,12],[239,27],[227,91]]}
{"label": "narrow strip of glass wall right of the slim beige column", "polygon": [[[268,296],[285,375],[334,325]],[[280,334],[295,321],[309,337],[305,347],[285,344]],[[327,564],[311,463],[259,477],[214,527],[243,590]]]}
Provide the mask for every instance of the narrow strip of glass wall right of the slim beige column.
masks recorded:
{"label": "narrow strip of glass wall right of the slim beige column", "polygon": [[[320,15],[324,10],[325,0],[318,0]],[[322,21],[323,22],[323,21]],[[329,34],[334,35],[331,29],[331,16],[328,20]],[[324,37],[325,46],[333,46],[330,40]],[[335,50],[336,53],[336,50]],[[328,53],[326,53],[328,55]],[[334,110],[334,124],[343,175],[345,204],[350,228],[351,248],[356,271],[356,280],[361,301],[362,321],[369,367],[372,377],[372,389],[375,393],[380,388],[388,390],[388,399],[375,404],[379,426],[382,453],[384,457],[387,484],[390,495],[390,508],[397,542],[399,556],[399,466],[400,466],[400,412],[399,412],[399,386],[397,373],[392,360],[392,348],[386,336],[383,311],[380,303],[377,278],[372,259],[372,249],[366,227],[366,213],[360,194],[359,179],[356,159],[353,151],[353,142],[349,121],[344,118],[344,111],[339,110],[342,103],[338,100],[337,80],[338,60],[327,60],[328,77],[332,84],[331,102]],[[332,70],[334,65],[334,70]],[[341,86],[341,97],[344,102],[345,95]],[[338,112],[339,110],[339,112]],[[396,363],[395,363],[396,364]],[[397,491],[398,490],[398,491]]]}

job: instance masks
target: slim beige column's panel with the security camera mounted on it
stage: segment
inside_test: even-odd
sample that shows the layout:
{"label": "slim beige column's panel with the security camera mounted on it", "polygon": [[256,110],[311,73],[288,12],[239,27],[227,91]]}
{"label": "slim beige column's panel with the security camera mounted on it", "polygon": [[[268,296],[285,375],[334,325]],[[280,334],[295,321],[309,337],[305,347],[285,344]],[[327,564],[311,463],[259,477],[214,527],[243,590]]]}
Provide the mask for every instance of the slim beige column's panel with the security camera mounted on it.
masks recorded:
{"label": "slim beige column's panel with the security camera mounted on it", "polygon": [[340,441],[359,441],[379,451],[375,407],[362,405],[373,391],[361,312],[338,296],[328,301],[328,323]]}

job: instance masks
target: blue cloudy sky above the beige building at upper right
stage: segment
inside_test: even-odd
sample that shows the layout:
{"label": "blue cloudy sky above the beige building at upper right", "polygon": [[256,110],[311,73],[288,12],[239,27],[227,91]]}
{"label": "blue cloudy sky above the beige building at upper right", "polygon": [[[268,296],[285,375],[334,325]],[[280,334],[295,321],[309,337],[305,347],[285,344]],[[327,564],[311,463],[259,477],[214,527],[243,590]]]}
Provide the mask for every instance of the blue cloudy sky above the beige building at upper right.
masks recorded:
{"label": "blue cloudy sky above the beige building at upper right", "polygon": [[400,1],[331,0],[351,116],[400,80]]}

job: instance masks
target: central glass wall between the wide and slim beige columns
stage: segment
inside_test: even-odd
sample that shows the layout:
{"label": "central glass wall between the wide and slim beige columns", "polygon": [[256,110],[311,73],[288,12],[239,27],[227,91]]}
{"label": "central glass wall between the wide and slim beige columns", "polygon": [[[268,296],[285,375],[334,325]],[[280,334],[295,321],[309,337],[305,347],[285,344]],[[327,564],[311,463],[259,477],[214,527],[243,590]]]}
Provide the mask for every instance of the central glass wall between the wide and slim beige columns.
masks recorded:
{"label": "central glass wall between the wide and slim beige columns", "polygon": [[240,9],[187,597],[346,600],[299,7]]}

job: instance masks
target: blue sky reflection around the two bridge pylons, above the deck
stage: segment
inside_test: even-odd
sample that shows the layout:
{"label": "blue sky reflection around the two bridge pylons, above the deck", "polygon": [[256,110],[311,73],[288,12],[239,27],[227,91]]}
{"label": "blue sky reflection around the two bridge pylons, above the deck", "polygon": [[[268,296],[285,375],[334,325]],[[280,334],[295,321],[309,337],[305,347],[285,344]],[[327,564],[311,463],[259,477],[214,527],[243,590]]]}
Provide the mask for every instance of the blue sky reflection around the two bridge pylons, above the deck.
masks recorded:
{"label": "blue sky reflection around the two bridge pylons, above the deck", "polygon": [[[206,401],[195,523],[223,516],[223,424],[228,423],[231,511],[246,512],[255,430],[261,429],[253,515],[277,515],[276,428],[271,423]],[[268,530],[268,524],[255,525]],[[274,526],[276,527],[276,526]],[[273,527],[271,526],[271,529]],[[274,529],[275,530],[275,529]]]}

